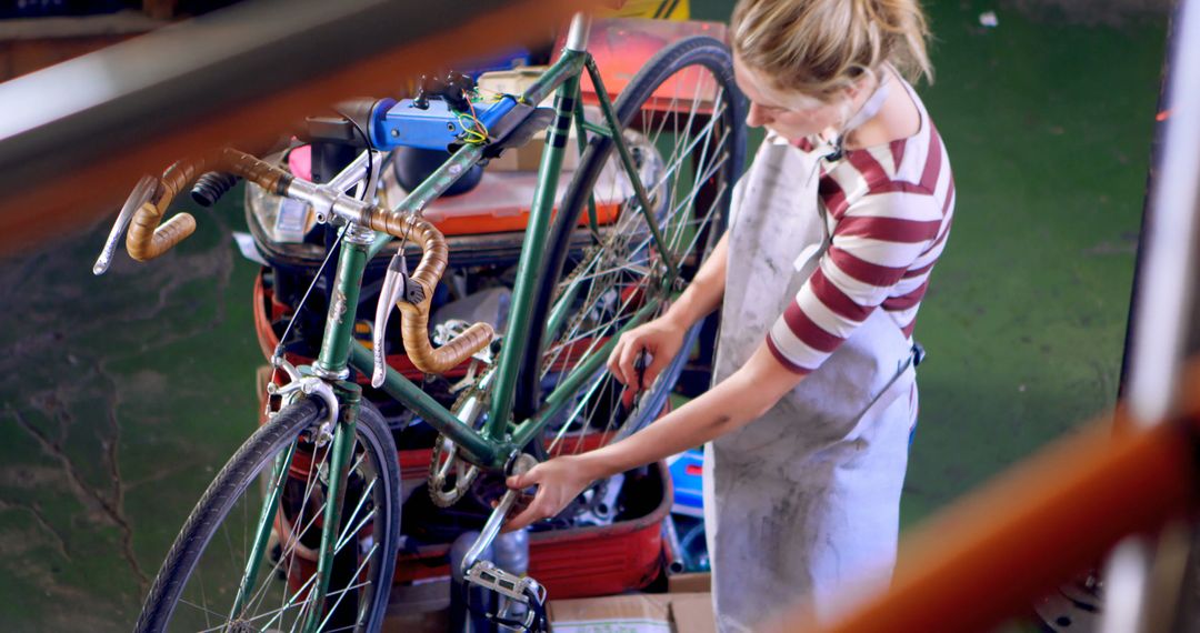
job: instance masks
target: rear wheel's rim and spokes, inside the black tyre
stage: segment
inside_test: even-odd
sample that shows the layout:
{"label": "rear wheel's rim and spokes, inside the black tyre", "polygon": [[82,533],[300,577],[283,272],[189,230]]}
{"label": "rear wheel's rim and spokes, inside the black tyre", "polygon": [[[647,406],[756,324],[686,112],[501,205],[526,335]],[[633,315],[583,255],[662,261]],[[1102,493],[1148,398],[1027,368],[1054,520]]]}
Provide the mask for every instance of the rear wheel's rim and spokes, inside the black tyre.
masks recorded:
{"label": "rear wheel's rim and spokes, inside the black tyre", "polygon": [[[692,86],[676,91],[658,106],[670,114],[649,115],[638,108],[625,138],[642,175],[659,228],[684,282],[698,269],[721,230],[734,156],[733,108],[720,82],[704,66],[688,66],[666,83]],[[660,84],[661,85],[661,84]],[[704,89],[715,98],[706,103]],[[707,110],[707,111],[706,111]],[[710,113],[710,114],[709,114]],[[624,191],[622,191],[624,189]],[[662,288],[665,270],[652,247],[652,233],[616,152],[610,152],[593,188],[598,200],[624,199],[611,228],[593,233],[593,246],[582,257],[570,257],[551,302],[551,327],[541,361],[544,392],[552,391],[574,361],[595,354],[634,313],[654,299],[673,293]],[[587,213],[587,209],[581,213]],[[659,307],[660,314],[665,307]],[[570,314],[556,321],[556,313]],[[686,350],[684,350],[686,352]],[[676,364],[678,367],[678,363]],[[577,392],[575,400],[547,424],[550,454],[578,453],[619,439],[653,418],[665,402],[664,390],[677,372],[664,370],[654,385],[636,397],[625,392],[601,368]]]}

